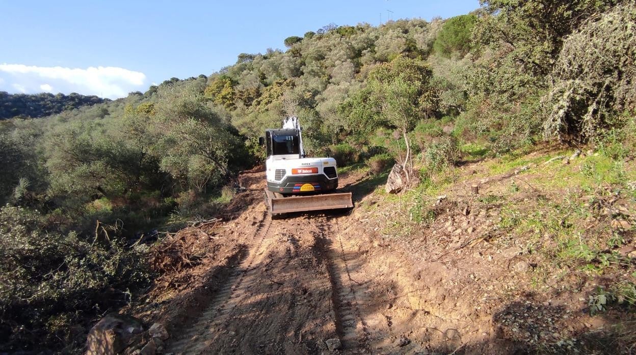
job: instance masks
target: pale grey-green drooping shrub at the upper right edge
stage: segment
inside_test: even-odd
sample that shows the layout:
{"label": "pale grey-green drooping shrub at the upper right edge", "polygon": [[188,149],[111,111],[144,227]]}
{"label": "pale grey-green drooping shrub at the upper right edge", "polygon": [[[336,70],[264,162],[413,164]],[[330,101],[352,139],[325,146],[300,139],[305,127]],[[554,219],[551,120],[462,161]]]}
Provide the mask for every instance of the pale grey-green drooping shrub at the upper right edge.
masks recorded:
{"label": "pale grey-green drooping shrub at the upper right edge", "polygon": [[591,18],[567,37],[543,98],[546,137],[586,141],[636,109],[636,5]]}

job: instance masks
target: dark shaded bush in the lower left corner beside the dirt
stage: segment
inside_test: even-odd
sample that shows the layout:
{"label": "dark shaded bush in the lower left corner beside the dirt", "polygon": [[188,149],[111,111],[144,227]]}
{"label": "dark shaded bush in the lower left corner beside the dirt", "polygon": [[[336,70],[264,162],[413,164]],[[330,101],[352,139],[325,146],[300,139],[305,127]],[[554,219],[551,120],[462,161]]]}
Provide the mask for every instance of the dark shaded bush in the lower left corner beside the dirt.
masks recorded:
{"label": "dark shaded bush in the lower left corner beside the dirt", "polygon": [[[0,209],[0,352],[71,349],[104,312],[148,285],[143,245],[43,231],[41,215]],[[94,240],[93,240],[94,239]]]}

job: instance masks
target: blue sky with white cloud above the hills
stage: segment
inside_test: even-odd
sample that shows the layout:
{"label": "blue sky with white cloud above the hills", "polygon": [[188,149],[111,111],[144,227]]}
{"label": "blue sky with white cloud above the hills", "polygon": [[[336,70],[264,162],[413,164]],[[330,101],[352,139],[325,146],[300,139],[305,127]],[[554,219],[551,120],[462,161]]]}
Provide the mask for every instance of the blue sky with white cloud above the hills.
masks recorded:
{"label": "blue sky with white cloud above the hills", "polygon": [[[478,0],[0,0],[0,91],[125,97],[209,75],[289,36],[390,18],[448,18]],[[391,13],[392,11],[392,13]]]}

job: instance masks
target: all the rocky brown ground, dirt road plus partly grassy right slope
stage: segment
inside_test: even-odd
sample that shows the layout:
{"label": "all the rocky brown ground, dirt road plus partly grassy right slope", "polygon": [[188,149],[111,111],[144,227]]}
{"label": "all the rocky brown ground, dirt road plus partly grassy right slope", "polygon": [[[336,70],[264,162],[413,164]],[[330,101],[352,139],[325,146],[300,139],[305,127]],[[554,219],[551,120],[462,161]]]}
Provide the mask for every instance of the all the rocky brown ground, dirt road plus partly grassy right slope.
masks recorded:
{"label": "all the rocky brown ground, dirt road plus partly grassy right slope", "polygon": [[570,153],[466,164],[397,196],[353,171],[354,210],[280,220],[263,172],[246,172],[223,220],[162,241],[162,278],[125,311],[165,325],[154,352],[173,354],[629,353],[630,293],[600,301],[635,280],[635,197],[581,189],[595,158]]}

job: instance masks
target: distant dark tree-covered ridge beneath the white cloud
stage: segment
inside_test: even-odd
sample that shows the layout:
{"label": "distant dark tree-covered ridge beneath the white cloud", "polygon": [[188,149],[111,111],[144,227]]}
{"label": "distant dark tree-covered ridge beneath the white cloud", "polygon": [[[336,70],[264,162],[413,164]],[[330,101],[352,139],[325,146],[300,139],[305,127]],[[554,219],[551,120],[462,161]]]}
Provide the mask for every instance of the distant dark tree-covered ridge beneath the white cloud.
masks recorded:
{"label": "distant dark tree-covered ridge beneath the white cloud", "polygon": [[10,94],[0,91],[0,119],[12,117],[45,117],[84,105],[100,104],[108,99],[78,93]]}

